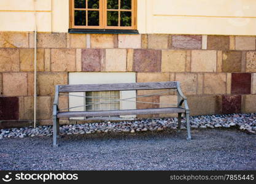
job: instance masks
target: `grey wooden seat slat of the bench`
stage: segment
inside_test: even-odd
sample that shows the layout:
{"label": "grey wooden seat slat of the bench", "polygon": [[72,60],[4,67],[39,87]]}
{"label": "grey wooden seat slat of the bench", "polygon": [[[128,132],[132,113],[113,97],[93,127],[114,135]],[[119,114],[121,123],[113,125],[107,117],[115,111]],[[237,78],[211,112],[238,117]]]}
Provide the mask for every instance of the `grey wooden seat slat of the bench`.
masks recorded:
{"label": "grey wooden seat slat of the bench", "polygon": [[89,111],[89,112],[59,112],[58,118],[70,117],[107,117],[118,115],[139,115],[152,113],[178,113],[185,112],[185,109],[180,107],[157,108],[157,109],[131,109],[131,110],[104,110],[104,111]]}

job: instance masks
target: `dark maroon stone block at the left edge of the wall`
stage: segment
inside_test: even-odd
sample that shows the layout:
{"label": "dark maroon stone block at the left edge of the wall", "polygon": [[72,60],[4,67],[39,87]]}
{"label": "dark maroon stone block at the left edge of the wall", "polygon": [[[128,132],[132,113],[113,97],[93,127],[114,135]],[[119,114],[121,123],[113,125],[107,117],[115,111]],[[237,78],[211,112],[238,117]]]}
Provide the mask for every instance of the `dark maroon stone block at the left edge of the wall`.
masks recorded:
{"label": "dark maroon stone block at the left edge of the wall", "polygon": [[0,120],[18,120],[18,97],[0,97]]}

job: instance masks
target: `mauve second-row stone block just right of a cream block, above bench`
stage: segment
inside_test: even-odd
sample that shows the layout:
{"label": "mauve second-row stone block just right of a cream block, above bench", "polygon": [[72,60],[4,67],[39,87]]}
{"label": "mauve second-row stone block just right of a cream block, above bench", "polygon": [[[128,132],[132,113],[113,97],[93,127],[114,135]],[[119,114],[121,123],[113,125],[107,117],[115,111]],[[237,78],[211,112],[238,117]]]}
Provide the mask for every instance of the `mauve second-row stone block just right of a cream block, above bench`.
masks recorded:
{"label": "mauve second-row stone block just right of a cream block, above bench", "polygon": [[135,72],[161,72],[161,50],[134,50],[133,69]]}

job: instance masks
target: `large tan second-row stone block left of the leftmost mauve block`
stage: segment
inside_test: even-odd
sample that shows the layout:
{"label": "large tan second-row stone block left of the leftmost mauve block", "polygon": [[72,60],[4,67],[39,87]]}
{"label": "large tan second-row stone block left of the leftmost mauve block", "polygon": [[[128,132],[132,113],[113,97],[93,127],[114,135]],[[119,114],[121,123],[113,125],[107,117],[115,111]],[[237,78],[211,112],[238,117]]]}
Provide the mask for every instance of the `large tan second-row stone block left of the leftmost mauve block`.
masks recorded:
{"label": "large tan second-row stone block left of the leftmost mauve block", "polygon": [[53,72],[76,71],[76,49],[53,48],[51,58],[51,70]]}

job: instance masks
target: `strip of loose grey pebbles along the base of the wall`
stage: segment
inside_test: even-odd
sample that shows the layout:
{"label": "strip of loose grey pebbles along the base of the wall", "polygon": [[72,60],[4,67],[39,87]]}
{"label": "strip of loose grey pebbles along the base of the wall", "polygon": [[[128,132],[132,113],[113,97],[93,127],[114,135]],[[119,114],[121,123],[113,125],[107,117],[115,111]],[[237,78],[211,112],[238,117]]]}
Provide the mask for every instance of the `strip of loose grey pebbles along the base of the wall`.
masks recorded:
{"label": "strip of loose grey pebbles along the base of the wall", "polygon": [[[190,117],[192,128],[239,128],[250,134],[256,134],[256,113],[234,113],[230,115],[203,115]],[[148,118],[133,121],[101,123],[85,123],[77,125],[64,125],[60,127],[61,135],[93,134],[101,132],[140,132],[163,131],[164,129],[177,129],[177,118]],[[182,119],[182,129],[186,129],[185,120]],[[8,137],[34,137],[52,136],[52,126],[38,126],[36,128],[0,129],[0,139]]]}

